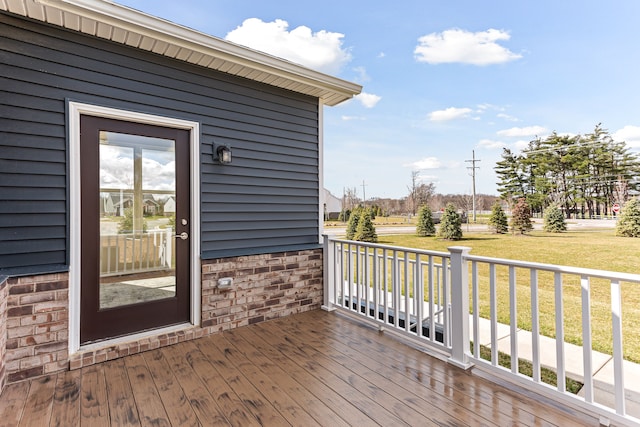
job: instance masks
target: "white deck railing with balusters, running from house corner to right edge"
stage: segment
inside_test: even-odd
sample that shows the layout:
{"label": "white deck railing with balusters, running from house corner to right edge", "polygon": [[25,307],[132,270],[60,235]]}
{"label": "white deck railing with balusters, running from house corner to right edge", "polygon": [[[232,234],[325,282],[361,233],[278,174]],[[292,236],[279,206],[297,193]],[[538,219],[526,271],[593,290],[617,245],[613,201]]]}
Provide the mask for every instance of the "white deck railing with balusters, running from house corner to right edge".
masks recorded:
{"label": "white deck railing with balusters, running from house corner to right edge", "polygon": [[[640,332],[630,324],[637,307],[623,305],[640,275],[472,256],[466,247],[435,252],[327,236],[324,247],[323,308],[400,333],[456,366],[595,413],[605,424],[640,422],[626,410],[623,345],[624,336],[635,340]],[[575,310],[580,321],[569,323],[565,313]],[[603,348],[593,348],[594,334]],[[552,351],[543,351],[549,345]],[[509,367],[499,365],[499,350],[511,356]],[[610,406],[596,399],[596,350],[613,365]],[[569,363],[569,351],[580,352],[581,361]],[[519,359],[530,362],[531,376],[519,373]],[[544,368],[555,371],[555,387],[543,382]],[[580,396],[567,391],[568,372],[583,383]]]}

